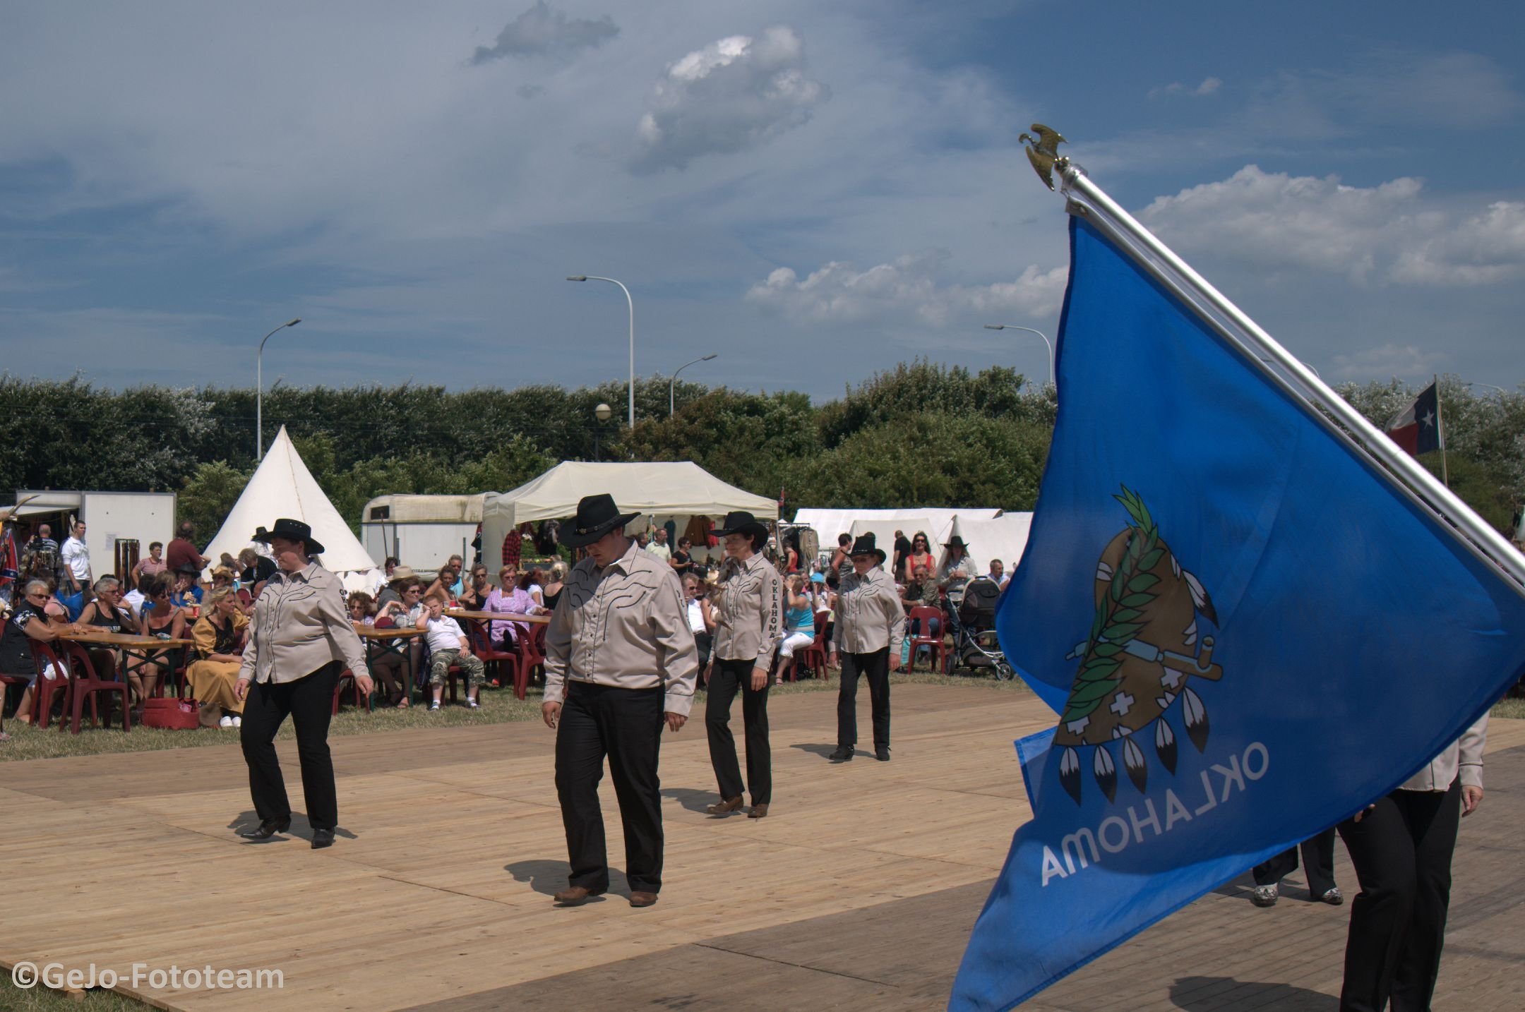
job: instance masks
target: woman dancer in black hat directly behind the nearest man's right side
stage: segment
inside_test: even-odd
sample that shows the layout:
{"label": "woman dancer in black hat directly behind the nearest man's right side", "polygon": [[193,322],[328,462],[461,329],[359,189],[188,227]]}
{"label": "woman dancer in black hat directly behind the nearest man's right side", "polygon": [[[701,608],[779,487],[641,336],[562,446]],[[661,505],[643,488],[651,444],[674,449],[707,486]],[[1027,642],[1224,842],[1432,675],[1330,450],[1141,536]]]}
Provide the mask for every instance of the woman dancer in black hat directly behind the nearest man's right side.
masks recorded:
{"label": "woman dancer in black hat directly behind the nearest man's right side", "polygon": [[767,815],[773,800],[773,759],[767,742],[767,686],[773,652],[782,639],[782,587],[778,570],[761,555],[767,527],[747,512],[726,515],[715,529],[726,547],[720,582],[712,594],[715,605],[714,666],[709,674],[709,700],[705,704],[705,730],[709,735],[709,762],[720,783],[720,803],[706,811],[729,815],[741,808],[741,767],[737,739],[730,735],[730,703],[741,689],[741,719],[747,739],[747,780],[752,782],[749,818]]}

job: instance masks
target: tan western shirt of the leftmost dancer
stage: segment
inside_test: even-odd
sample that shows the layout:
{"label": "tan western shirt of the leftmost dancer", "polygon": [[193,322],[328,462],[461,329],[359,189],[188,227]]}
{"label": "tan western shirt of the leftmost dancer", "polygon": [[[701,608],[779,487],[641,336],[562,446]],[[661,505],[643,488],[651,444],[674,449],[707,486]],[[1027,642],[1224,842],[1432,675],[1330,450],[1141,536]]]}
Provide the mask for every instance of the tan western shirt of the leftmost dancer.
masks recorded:
{"label": "tan western shirt of the leftmost dancer", "polygon": [[366,652],[349,623],[339,578],[317,562],[276,575],[255,602],[239,680],[296,681],[329,661],[366,674]]}

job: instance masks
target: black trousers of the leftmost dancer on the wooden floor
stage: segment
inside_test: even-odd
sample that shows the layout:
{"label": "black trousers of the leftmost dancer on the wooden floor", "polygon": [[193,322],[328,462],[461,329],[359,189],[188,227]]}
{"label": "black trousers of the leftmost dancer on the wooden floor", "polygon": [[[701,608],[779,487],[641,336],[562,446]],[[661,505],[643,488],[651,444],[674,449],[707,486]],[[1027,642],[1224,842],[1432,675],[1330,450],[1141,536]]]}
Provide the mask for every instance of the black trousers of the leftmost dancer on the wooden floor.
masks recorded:
{"label": "black trousers of the leftmost dancer on the wooden floor", "polygon": [[323,665],[296,681],[255,681],[244,700],[244,725],[239,744],[249,764],[249,794],[259,818],[287,818],[291,802],[276,759],[276,732],[291,715],[296,727],[296,754],[302,761],[302,797],[307,821],[313,829],[339,826],[339,791],[334,788],[334,761],[328,754],[328,721],[334,713],[334,686],[340,661]]}

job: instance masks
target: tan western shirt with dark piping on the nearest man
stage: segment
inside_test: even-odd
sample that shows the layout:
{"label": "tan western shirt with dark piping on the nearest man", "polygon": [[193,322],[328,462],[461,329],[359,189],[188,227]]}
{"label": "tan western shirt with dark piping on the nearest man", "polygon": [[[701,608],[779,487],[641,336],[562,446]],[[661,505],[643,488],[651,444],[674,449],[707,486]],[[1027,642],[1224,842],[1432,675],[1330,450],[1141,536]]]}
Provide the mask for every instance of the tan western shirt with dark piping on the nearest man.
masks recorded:
{"label": "tan western shirt with dark piping on the nearest man", "polygon": [[561,703],[566,683],[619,689],[662,687],[662,709],[688,715],[698,651],[671,565],[634,541],[598,568],[583,559],[567,575],[546,629],[546,703]]}

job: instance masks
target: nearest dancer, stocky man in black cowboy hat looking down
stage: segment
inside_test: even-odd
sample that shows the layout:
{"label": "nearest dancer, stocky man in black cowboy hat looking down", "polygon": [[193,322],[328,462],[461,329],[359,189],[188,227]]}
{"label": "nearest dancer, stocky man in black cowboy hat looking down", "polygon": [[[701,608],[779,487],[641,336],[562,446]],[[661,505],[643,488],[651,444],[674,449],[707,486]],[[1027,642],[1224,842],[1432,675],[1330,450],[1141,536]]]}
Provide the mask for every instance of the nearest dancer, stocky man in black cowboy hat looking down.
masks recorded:
{"label": "nearest dancer, stocky man in black cowboy hat looking down", "polygon": [[694,703],[698,652],[673,567],[625,536],[639,514],[610,495],[587,495],[560,529],[561,544],[587,549],[567,575],[546,629],[541,716],[557,732],[557,796],[572,866],[555,901],[575,907],[608,889],[598,782],[604,756],[625,831],[630,905],[662,889],[662,725],[677,732]]}

